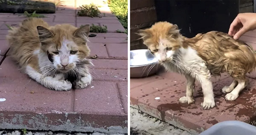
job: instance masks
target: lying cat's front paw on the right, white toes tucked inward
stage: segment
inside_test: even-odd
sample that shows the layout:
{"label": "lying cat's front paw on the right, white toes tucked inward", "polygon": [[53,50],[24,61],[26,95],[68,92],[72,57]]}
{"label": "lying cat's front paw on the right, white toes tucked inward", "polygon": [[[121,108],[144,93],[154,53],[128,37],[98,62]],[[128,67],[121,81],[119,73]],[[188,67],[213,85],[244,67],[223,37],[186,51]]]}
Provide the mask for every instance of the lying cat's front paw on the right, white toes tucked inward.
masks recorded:
{"label": "lying cat's front paw on the right, white toes tucked inward", "polygon": [[90,85],[91,81],[92,77],[90,76],[90,74],[88,74],[87,76],[84,76],[81,79],[78,79],[76,82],[74,82],[73,87],[75,89],[83,89]]}

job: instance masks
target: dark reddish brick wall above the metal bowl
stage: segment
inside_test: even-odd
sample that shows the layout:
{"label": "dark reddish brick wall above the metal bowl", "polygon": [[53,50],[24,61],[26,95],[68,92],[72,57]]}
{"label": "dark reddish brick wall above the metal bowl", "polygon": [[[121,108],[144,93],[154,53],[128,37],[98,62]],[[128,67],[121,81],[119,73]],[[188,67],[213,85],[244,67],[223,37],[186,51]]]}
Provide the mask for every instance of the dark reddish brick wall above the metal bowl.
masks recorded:
{"label": "dark reddish brick wall above the metal bowl", "polygon": [[148,28],[157,21],[154,0],[131,0],[131,50],[146,48],[137,31]]}

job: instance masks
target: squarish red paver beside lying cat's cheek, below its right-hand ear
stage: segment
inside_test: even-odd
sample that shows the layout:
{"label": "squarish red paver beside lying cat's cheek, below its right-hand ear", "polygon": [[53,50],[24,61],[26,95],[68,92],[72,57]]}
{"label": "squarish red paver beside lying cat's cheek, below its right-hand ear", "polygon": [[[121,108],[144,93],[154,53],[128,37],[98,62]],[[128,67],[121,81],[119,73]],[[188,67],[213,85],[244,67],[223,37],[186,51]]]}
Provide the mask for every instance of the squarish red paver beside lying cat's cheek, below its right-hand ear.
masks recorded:
{"label": "squarish red paver beside lying cat's cheek, below its right-hand ear", "polygon": [[87,42],[87,45],[91,51],[90,57],[97,55],[99,59],[108,58],[108,53],[107,53],[106,47],[104,46],[105,44]]}

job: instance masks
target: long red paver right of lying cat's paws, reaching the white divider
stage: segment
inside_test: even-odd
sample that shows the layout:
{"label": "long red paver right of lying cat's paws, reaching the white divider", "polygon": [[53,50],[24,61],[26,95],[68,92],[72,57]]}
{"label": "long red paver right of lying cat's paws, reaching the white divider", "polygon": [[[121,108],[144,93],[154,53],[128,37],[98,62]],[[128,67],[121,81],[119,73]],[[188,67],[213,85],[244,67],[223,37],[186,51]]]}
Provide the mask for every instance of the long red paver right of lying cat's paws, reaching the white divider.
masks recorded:
{"label": "long red paver right of lying cat's paws, reaching the white divider", "polygon": [[97,81],[127,81],[127,70],[94,69],[93,79]]}

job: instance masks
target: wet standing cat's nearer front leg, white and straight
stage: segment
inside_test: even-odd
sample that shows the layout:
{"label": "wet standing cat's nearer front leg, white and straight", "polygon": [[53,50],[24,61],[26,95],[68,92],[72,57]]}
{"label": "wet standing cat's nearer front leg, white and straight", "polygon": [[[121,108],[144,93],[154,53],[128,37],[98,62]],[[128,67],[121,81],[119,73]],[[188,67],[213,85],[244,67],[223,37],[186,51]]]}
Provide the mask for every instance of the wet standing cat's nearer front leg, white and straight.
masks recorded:
{"label": "wet standing cat's nearer front leg, white and straight", "polygon": [[204,109],[210,109],[215,106],[215,101],[214,101],[214,93],[213,93],[213,88],[212,88],[212,82],[210,80],[211,75],[209,72],[206,73],[200,73],[197,75],[198,81],[201,83],[203,93],[204,93],[204,102],[201,103],[201,106]]}

